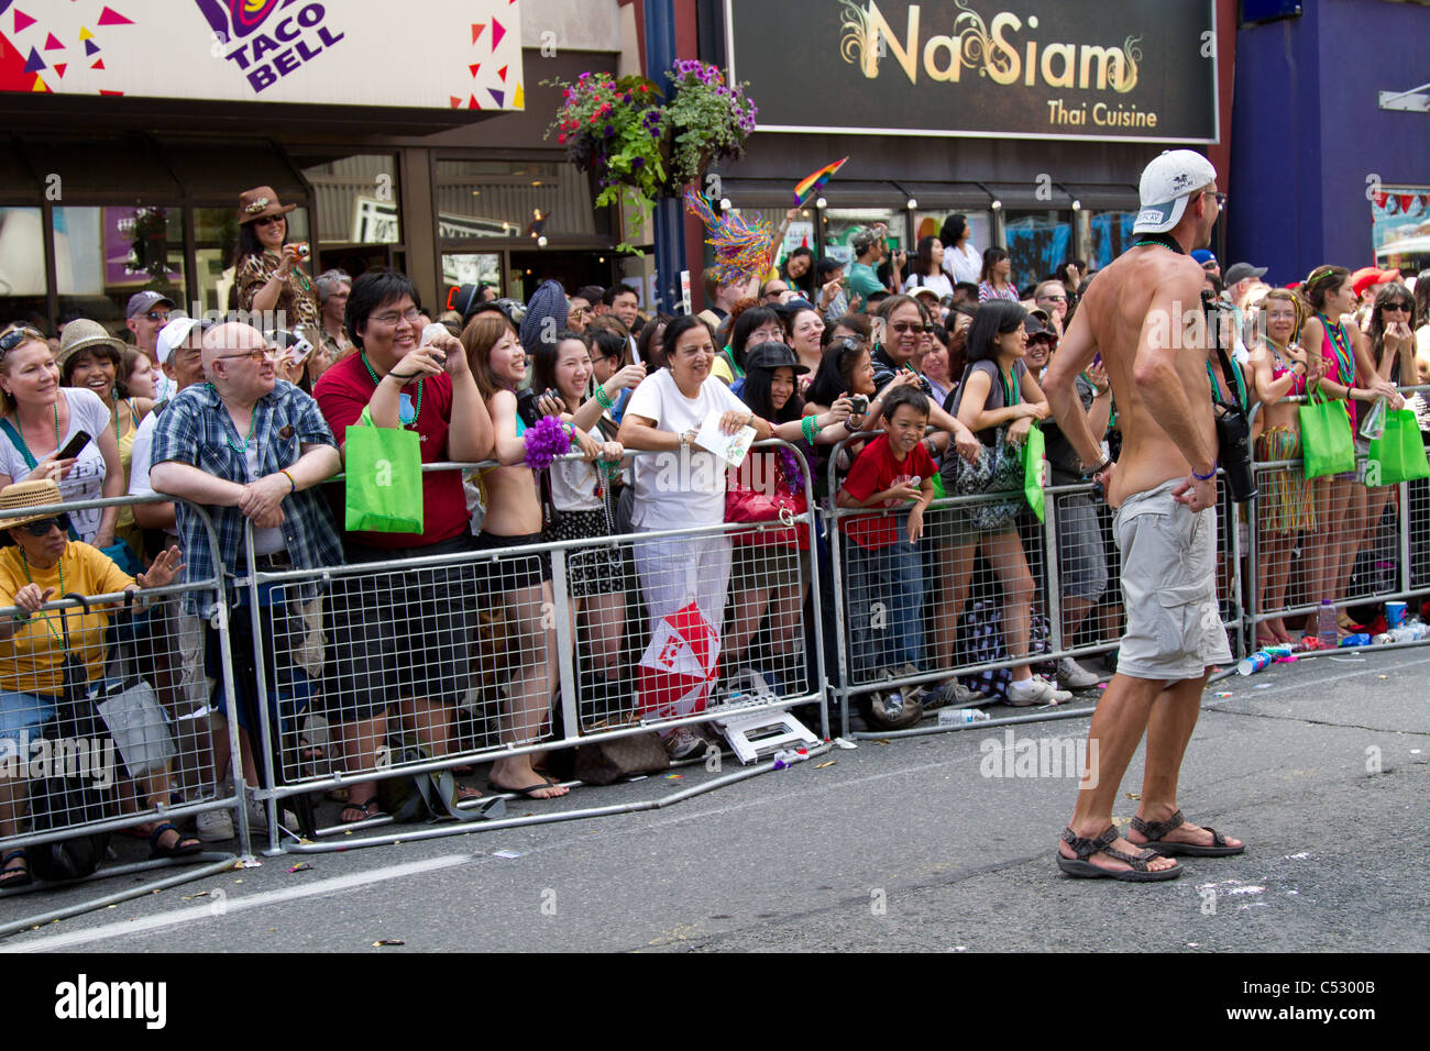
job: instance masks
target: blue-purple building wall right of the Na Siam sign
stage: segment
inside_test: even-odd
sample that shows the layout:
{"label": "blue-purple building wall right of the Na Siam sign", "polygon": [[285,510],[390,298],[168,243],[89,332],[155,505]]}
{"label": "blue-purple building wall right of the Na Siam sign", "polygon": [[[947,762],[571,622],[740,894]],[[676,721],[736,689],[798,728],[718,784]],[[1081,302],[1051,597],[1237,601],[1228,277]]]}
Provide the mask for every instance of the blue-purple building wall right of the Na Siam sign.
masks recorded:
{"label": "blue-purple building wall right of the Na Siam sign", "polygon": [[1374,262],[1366,177],[1430,186],[1430,114],[1380,92],[1430,82],[1430,7],[1306,0],[1237,31],[1227,252],[1287,285],[1321,263]]}

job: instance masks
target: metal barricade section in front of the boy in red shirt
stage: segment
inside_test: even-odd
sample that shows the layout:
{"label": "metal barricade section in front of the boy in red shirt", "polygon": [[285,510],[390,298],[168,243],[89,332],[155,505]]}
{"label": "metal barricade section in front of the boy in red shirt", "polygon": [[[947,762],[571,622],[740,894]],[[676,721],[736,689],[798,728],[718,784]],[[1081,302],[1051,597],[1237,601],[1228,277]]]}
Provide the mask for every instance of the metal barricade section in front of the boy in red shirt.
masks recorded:
{"label": "metal barricade section in front of the boy in red shirt", "polygon": [[[831,453],[831,462],[834,462],[845,446],[851,442],[865,440],[881,432],[861,432],[858,435],[851,435],[842,439],[834,446]],[[957,453],[945,453],[957,455]],[[1047,469],[1045,469],[1047,470]],[[1047,473],[1044,475],[1047,479]],[[857,669],[852,666],[855,663],[854,655],[851,653],[851,645],[857,645],[851,636],[852,623],[852,606],[861,599],[867,598],[854,592],[859,591],[858,582],[851,573],[849,562],[849,543],[839,543],[838,538],[841,535],[841,522],[848,520],[871,520],[871,519],[888,519],[897,518],[902,519],[905,509],[878,509],[878,510],[857,510],[845,509],[837,506],[837,492],[838,492],[839,476],[837,472],[829,472],[828,479],[828,493],[827,505],[822,510],[825,520],[828,523],[827,533],[829,535],[829,552],[831,561],[834,563],[834,578],[837,586],[831,602],[834,602],[835,609],[835,625],[838,631],[838,655],[837,655],[837,671],[838,679],[834,684],[834,695],[838,699],[838,714],[839,714],[839,729],[845,736],[854,738],[895,738],[895,736],[914,736],[922,734],[938,734],[948,731],[967,729],[972,726],[1000,726],[1000,725],[1017,725],[1024,722],[1040,722],[1051,719],[1067,719],[1078,718],[1090,714],[1091,708],[1088,705],[1078,704],[1074,701],[1070,705],[1060,705],[1057,708],[1038,708],[1032,714],[1020,714],[1005,718],[997,718],[975,724],[955,724],[955,725],[919,725],[901,731],[875,731],[875,732],[858,732],[849,734],[849,704],[852,698],[871,694],[878,689],[898,689],[907,685],[918,686],[934,686],[935,684],[950,679],[952,676],[965,676],[971,673],[985,673],[994,672],[997,669],[1011,669],[1020,665],[1035,665],[1035,663],[1054,663],[1064,656],[1074,659],[1088,658],[1097,653],[1104,653],[1110,649],[1118,646],[1123,633],[1123,619],[1121,619],[1121,593],[1117,583],[1117,571],[1120,563],[1120,556],[1117,546],[1111,538],[1111,509],[1107,508],[1095,486],[1090,482],[1077,485],[1045,485],[1045,506],[1044,506],[1044,520],[1038,523],[1032,516],[1031,510],[1027,509],[1025,502],[1021,512],[1018,512],[1014,519],[1014,532],[1021,541],[1025,563],[1028,565],[1028,572],[1032,576],[1032,602],[1037,605],[1031,606],[1028,622],[1030,622],[1030,638],[1037,639],[1041,643],[1038,652],[1030,652],[1020,658],[1007,656],[1007,649],[1004,648],[1004,656],[1000,659],[965,659],[965,661],[942,661],[932,665],[922,665],[909,673],[895,673],[884,678],[871,678],[868,675],[859,676]],[[1240,538],[1236,528],[1228,528],[1228,523],[1234,525],[1236,505],[1231,503],[1230,492],[1226,486],[1224,476],[1218,482],[1220,486],[1220,500],[1218,500],[1218,551],[1223,552],[1221,563],[1223,572],[1218,575],[1218,596],[1223,602],[1223,622],[1227,628],[1228,642],[1233,648],[1234,655],[1244,652],[1244,643],[1241,639],[1243,631],[1247,623],[1246,618],[1246,602],[1243,601],[1243,578],[1240,572]],[[1005,492],[1005,493],[985,493],[978,496],[945,496],[942,499],[935,499],[925,515],[924,539],[919,546],[930,543],[940,543],[940,515],[951,516],[961,510],[978,505],[1000,505],[1000,503],[1015,503],[1024,500],[1021,490]],[[1097,522],[1097,536],[1095,539],[1087,535],[1085,528],[1083,532],[1074,531],[1072,533],[1060,535],[1060,520],[1068,520],[1070,525],[1075,520],[1072,518],[1072,505],[1077,503],[1078,515],[1083,515],[1083,520]],[[965,539],[967,533],[955,535],[954,539]],[[1064,573],[1062,569],[1068,566],[1080,566],[1080,563],[1087,562],[1087,552],[1081,548],[1085,545],[1093,545],[1097,548],[1093,561],[1101,559],[1105,563],[1107,579],[1101,591],[1100,601],[1088,611],[1078,625],[1078,636],[1085,638],[1085,641],[1078,642],[1077,638],[1064,638]],[[980,562],[988,563],[988,558],[984,555],[981,548],[968,555],[968,543],[952,543],[954,549],[961,549],[965,553],[964,559],[971,559],[971,563],[955,565],[954,569],[958,571],[960,576],[975,575],[980,571]],[[940,561],[941,552],[934,553],[934,562]],[[928,565],[928,562],[925,562]],[[944,572],[947,569],[941,568],[937,572]],[[852,589],[852,591],[851,591]],[[974,611],[977,621],[968,619],[970,625],[978,626],[980,631],[987,632],[987,625],[991,619],[988,606],[992,603],[992,596],[1001,591],[1001,588],[994,588],[990,591],[987,586],[970,588],[964,592],[962,602],[950,602],[941,599],[938,595],[928,596],[928,588],[925,588],[925,609],[932,609],[934,612],[928,615],[927,622],[921,618],[919,623],[919,649],[927,651],[924,642],[931,636],[935,641],[932,646],[934,652],[950,652],[957,653],[971,653],[970,639],[961,638],[944,638],[940,641],[941,633],[952,635],[955,625],[942,623],[938,616],[940,612],[947,609],[955,609],[955,615],[960,621],[964,621],[970,611]],[[998,606],[998,621],[1001,631],[1002,609],[1001,603],[992,603]],[[1111,615],[1107,619],[1105,615]],[[1097,618],[1094,621],[1094,618]],[[1088,628],[1088,622],[1093,621],[1093,626]],[[961,635],[962,632],[960,632]]]}

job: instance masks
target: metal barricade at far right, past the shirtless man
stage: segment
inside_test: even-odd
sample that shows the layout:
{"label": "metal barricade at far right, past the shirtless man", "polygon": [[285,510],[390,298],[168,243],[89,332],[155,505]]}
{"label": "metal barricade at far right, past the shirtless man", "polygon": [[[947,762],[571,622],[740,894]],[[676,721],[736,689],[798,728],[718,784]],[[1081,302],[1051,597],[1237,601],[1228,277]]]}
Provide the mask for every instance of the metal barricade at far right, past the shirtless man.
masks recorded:
{"label": "metal barricade at far right, past the shirtless man", "polygon": [[[1399,388],[1401,393],[1430,393],[1430,386]],[[1290,396],[1281,399],[1287,405],[1304,405],[1304,396]],[[1364,406],[1364,403],[1363,403]],[[1369,408],[1369,406],[1366,406]],[[1263,406],[1253,406],[1253,419]],[[1364,412],[1364,408],[1363,408]],[[1367,455],[1357,450],[1357,479],[1364,479],[1367,472]],[[1294,618],[1296,622],[1313,618],[1320,606],[1321,598],[1331,598],[1337,606],[1369,605],[1411,599],[1423,599],[1430,595],[1430,482],[1400,482],[1396,486],[1367,488],[1361,480],[1350,479],[1314,479],[1306,482],[1301,459],[1283,459],[1257,462],[1253,450],[1253,473],[1257,479],[1258,496],[1254,502],[1251,520],[1256,528],[1250,531],[1250,558],[1247,559],[1247,652],[1258,648],[1256,643],[1256,629],[1268,619]],[[1270,492],[1276,492],[1280,483],[1278,476],[1290,473],[1293,479],[1304,483],[1306,498],[1316,512],[1313,529],[1294,528],[1290,531],[1290,541],[1277,541],[1280,531],[1273,525],[1278,522],[1281,509],[1268,499]],[[1294,492],[1296,486],[1287,486]],[[1358,492],[1357,492],[1358,489]],[[1376,493],[1380,489],[1380,493]],[[1379,498],[1379,499],[1377,499]],[[1357,509],[1363,513],[1369,510],[1369,500],[1376,499],[1379,513],[1376,520],[1361,518],[1358,542],[1328,535],[1326,512],[1344,519],[1347,513]],[[1350,506],[1347,506],[1347,502]],[[1391,505],[1394,512],[1391,513]],[[1389,522],[1389,529],[1387,529]],[[1387,536],[1389,533],[1389,536]],[[1268,543],[1270,541],[1270,543]],[[1328,545],[1336,542],[1338,553],[1336,558],[1336,573],[1333,581],[1340,581],[1343,593],[1321,596],[1317,591],[1316,568],[1321,559],[1330,559]],[[1346,543],[1353,543],[1354,549],[1347,551]],[[1370,572],[1357,573],[1361,556],[1367,548],[1370,555],[1366,566]],[[1270,601],[1264,595],[1264,578],[1271,576],[1271,586],[1280,592],[1280,601]],[[1360,586],[1356,586],[1356,585]],[[1407,608],[1407,616],[1417,612]],[[1301,632],[1291,629],[1293,636]],[[1391,649],[1404,646],[1426,645],[1430,639],[1393,642],[1376,649]],[[1320,656],[1334,653],[1334,649],[1313,649],[1298,656]]]}

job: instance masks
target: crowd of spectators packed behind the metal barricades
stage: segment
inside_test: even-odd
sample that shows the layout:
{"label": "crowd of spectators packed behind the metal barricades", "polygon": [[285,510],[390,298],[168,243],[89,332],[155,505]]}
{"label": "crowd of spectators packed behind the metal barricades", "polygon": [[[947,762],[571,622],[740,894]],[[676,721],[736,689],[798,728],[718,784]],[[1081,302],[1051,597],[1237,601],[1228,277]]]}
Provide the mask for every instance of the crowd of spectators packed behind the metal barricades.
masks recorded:
{"label": "crowd of spectators packed behind the metal barricades", "polygon": [[[1030,655],[1048,586],[1058,588],[1068,645],[1080,632],[1105,632],[1108,615],[1115,626],[1115,558],[1105,509],[1093,496],[1058,505],[1057,582],[1042,579],[1042,552],[1020,529],[1028,520],[1021,499],[932,505],[942,495],[1021,490],[1018,449],[1038,425],[1050,480],[1083,479],[1084,465],[1048,422],[1040,379],[1081,290],[1095,279],[1085,263],[1071,260],[1020,292],[1007,250],[988,246],[980,255],[967,220],[951,216],[942,236],[921,239],[912,257],[891,252],[888,232],[874,226],[852,237],[848,267],[801,249],[748,282],[721,282],[711,272],[708,307],[695,316],[648,316],[625,285],[568,292],[546,282],[526,305],[463,286],[450,300],[455,309],[433,319],[416,286],[392,270],[356,279],[327,270],[310,279],[306,246],[287,240],[290,209],[269,187],[240,199],[237,305],[285,319],[269,330],[240,319],[194,320],[164,293],[144,290],[127,305],[133,345],[84,317],[69,319],[57,342],[26,326],[0,336],[0,505],[27,506],[7,503],[4,493],[36,485],[63,502],[176,498],[3,523],[29,575],[20,586],[13,573],[3,575],[9,563],[0,558],[0,605],[17,606],[21,625],[0,625],[0,635],[10,632],[0,648],[17,649],[11,639],[24,632],[31,649],[59,645],[39,633],[43,613],[34,622],[19,613],[49,598],[31,589],[30,576],[51,556],[56,566],[76,561],[69,586],[94,593],[179,573],[193,591],[156,602],[147,631],[157,639],[150,648],[169,655],[159,675],[169,684],[163,695],[172,714],[209,705],[207,789],[229,765],[229,718],[239,724],[246,778],[256,784],[260,776],[267,758],[252,739],[259,676],[280,736],[297,739],[302,718],[320,714],[332,728],[335,762],[346,769],[380,765],[380,751],[402,732],[415,734],[433,756],[449,754],[459,738],[458,709],[478,675],[479,625],[492,622],[502,625],[505,646],[498,741],[519,748],[551,732],[558,646],[545,611],[553,599],[552,565],[546,553],[502,553],[509,549],[585,545],[566,561],[571,635],[582,645],[582,695],[606,696],[611,711],[632,692],[631,655],[644,648],[638,633],[691,603],[724,641],[725,675],[748,672],[768,685],[778,665],[786,673],[779,688],[809,688],[808,676],[794,676],[802,679],[797,686],[788,669],[805,661],[797,643],[808,583],[815,575],[829,579],[835,543],[847,565],[855,682],[957,666],[971,642],[960,631],[975,575],[995,585],[1002,652],[1011,661]],[[1300,453],[1297,416],[1283,399],[1310,389],[1344,399],[1347,426],[1357,429],[1357,408],[1380,399],[1399,408],[1397,388],[1430,370],[1427,275],[1413,293],[1399,273],[1324,266],[1294,289],[1271,289],[1258,267],[1238,263],[1223,279],[1214,259],[1203,262],[1208,293],[1223,296],[1234,316],[1236,375],[1224,375],[1216,360],[1208,372],[1218,396],[1263,405],[1261,460]],[[1090,369],[1078,393],[1094,433],[1115,453],[1105,375]],[[526,465],[523,433],[543,416],[561,420],[583,459],[535,472]],[[696,433],[712,418],[726,435],[749,426],[756,439],[792,443],[811,465],[817,500],[832,492],[832,508],[875,513],[852,513],[832,535],[815,529],[762,548],[742,549],[719,533],[696,543],[675,536],[599,545],[609,535],[718,526],[732,479],[742,488],[766,479],[771,499],[795,513],[807,509],[794,458],[756,450],[728,473],[699,446]],[[420,532],[342,531],[323,486],[342,469],[347,429],[369,423],[415,432],[423,463],[486,466],[465,482],[456,472],[425,473]],[[658,456],[632,460],[631,452],[674,455],[681,483],[669,483]],[[1364,473],[1313,483],[1294,470],[1271,478],[1257,525],[1268,569],[1260,576],[1263,608],[1290,603],[1293,549],[1307,555],[1308,566],[1298,601],[1327,598],[1344,608],[1357,555],[1374,542],[1387,506],[1389,492]],[[204,519],[216,529],[216,552]],[[440,561],[473,551],[499,558],[485,571]],[[342,576],[326,593],[305,585],[266,595],[256,618],[263,666],[236,675],[237,695],[223,696],[222,646],[210,622],[214,592],[202,585],[242,576],[250,556],[266,571],[380,568]],[[419,558],[433,561],[392,569]],[[626,595],[638,595],[641,609]],[[245,591],[230,583],[227,598],[245,609]],[[871,622],[875,608],[887,612],[882,632]],[[1341,616],[1348,631],[1348,612]],[[229,621],[229,648],[250,662],[253,619],[236,613]],[[44,626],[53,635],[53,625]],[[1280,618],[1260,631],[1267,642],[1300,636]],[[13,739],[44,722],[54,696],[4,659],[0,735]],[[1090,669],[1065,658],[1044,678],[1018,663],[1001,695],[1011,705],[1061,704],[1105,679],[1111,666]],[[92,668],[90,678],[99,676]],[[985,699],[967,681],[945,678],[928,691],[877,689],[859,715],[898,726],[925,706]],[[675,758],[705,745],[684,726],[665,738]],[[566,791],[529,751],[498,759],[489,788],[531,799]],[[157,798],[167,782],[156,774],[136,791]],[[345,822],[380,809],[372,781],[349,784],[345,804]],[[21,811],[13,794],[0,799],[0,832],[16,831]],[[257,808],[250,816],[263,819]],[[192,848],[172,825],[156,828],[156,852]],[[226,838],[232,819],[203,814],[197,832]],[[19,881],[11,872],[21,871],[23,858],[6,855],[0,879]]]}

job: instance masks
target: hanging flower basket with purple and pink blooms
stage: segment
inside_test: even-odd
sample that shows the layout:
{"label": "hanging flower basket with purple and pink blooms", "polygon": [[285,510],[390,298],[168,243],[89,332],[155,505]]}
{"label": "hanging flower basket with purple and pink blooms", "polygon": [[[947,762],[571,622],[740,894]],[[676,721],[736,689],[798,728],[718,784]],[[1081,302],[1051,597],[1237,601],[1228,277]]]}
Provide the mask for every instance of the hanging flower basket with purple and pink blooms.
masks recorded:
{"label": "hanging flower basket with purple and pink blooms", "polygon": [[[641,216],[656,199],[679,196],[705,167],[739,157],[755,130],[755,104],[746,84],[728,87],[719,69],[681,60],[671,69],[671,99],[655,82],[608,73],[582,73],[562,89],[562,107],[546,137],[566,147],[566,159],[596,176],[596,206],[625,203]],[[629,245],[622,250],[635,250]]]}

